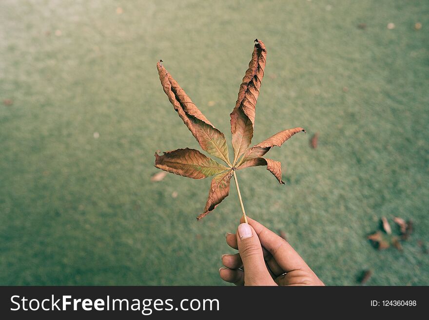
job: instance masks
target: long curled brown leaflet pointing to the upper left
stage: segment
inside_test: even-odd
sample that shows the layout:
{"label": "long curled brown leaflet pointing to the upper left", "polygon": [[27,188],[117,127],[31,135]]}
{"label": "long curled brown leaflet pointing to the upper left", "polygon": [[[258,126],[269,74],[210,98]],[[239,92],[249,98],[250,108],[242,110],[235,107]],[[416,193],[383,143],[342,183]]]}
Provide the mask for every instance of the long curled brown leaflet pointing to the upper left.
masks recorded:
{"label": "long curled brown leaflet pointing to the upper left", "polygon": [[204,151],[209,152],[211,155],[230,165],[228,147],[224,134],[217,130],[198,110],[176,80],[165,70],[161,62],[162,61],[159,61],[156,67],[158,68],[162,88],[180,118],[192,132]]}

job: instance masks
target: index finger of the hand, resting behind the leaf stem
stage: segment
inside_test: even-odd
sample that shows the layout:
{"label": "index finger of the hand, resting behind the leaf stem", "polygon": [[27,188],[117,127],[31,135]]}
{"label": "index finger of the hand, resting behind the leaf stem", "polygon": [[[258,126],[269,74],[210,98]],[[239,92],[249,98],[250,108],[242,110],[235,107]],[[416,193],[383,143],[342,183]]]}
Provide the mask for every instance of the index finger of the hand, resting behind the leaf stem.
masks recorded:
{"label": "index finger of the hand, resting behind the leaf stem", "polygon": [[[249,225],[253,226],[259,237],[261,245],[270,252],[277,264],[286,272],[292,270],[310,269],[301,256],[283,238],[275,234],[266,226],[261,225],[256,220],[247,217]],[[244,222],[242,217],[240,222]]]}

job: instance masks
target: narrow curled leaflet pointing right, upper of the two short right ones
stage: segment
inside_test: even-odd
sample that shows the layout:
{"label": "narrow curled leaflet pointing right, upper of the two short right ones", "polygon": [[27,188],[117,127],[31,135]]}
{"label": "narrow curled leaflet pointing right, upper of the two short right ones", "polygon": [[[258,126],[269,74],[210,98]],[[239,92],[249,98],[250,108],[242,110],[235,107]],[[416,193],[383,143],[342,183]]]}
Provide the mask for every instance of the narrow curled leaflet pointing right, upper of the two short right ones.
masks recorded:
{"label": "narrow curled leaflet pointing right, upper of the two short right ones", "polygon": [[271,150],[273,147],[281,147],[285,141],[289,140],[294,134],[298,132],[305,132],[303,128],[293,128],[277,132],[268,139],[258,143],[252,148],[246,150],[241,160],[238,162],[237,167],[242,163],[257,157],[262,157],[265,153]]}

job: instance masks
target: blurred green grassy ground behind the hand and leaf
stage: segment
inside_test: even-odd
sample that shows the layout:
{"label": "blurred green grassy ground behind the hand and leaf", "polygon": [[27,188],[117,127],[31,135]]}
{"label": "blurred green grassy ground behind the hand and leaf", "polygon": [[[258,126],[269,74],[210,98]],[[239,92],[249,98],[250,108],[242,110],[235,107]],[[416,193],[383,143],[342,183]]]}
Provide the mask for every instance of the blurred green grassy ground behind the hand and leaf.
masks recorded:
{"label": "blurred green grassy ground behind the hand and leaf", "polygon": [[[263,168],[239,172],[248,214],[284,230],[327,284],[369,268],[370,285],[429,285],[417,244],[429,243],[428,27],[425,0],[2,0],[0,284],[224,284],[234,184],[198,223],[209,179],[150,182],[156,150],[197,148],[156,60],[229,138],[261,38],[254,142],[309,133],[270,153],[286,186]],[[366,235],[396,215],[414,234],[403,252],[375,250]]]}

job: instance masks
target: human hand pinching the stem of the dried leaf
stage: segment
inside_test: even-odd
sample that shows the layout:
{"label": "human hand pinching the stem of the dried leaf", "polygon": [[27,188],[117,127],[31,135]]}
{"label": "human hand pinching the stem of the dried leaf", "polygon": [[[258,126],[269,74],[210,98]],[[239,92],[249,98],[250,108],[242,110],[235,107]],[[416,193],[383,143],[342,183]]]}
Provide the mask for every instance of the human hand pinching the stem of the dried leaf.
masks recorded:
{"label": "human hand pinching the stem of the dried leaf", "polygon": [[283,238],[257,221],[241,218],[227,244],[239,253],[224,254],[220,278],[235,285],[324,285]]}

